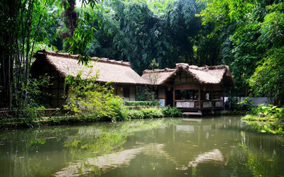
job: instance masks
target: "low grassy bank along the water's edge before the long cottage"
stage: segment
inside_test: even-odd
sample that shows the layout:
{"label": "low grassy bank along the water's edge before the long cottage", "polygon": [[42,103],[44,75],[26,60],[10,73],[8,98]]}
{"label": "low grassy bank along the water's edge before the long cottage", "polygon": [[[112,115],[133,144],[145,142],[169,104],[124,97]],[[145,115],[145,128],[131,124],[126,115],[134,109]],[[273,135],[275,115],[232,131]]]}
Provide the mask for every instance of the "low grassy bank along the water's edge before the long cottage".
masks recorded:
{"label": "low grassy bank along the water's edge before the long cottage", "polygon": [[[121,115],[118,117],[118,115]],[[178,108],[160,108],[160,107],[136,107],[125,108],[123,113],[118,112],[114,117],[97,117],[96,115],[65,115],[33,118],[6,118],[0,120],[0,129],[9,129],[15,127],[40,127],[43,125],[64,125],[82,122],[98,122],[98,121],[119,121],[131,119],[151,119],[163,117],[178,117],[181,116]],[[124,119],[122,119],[124,118]]]}

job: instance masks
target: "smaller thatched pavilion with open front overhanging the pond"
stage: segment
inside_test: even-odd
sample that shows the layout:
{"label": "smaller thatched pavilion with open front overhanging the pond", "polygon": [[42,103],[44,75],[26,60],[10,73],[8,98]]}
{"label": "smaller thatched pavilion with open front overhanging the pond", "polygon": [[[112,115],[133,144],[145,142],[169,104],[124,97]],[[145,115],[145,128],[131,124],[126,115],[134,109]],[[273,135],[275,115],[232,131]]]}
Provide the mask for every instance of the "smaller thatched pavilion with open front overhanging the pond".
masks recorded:
{"label": "smaller thatched pavilion with open front overhanging the pond", "polygon": [[[158,99],[191,113],[224,108],[224,91],[234,87],[228,66],[197,67],[185,63],[175,69],[145,70],[143,79],[158,86]],[[190,114],[190,113],[189,113]]]}

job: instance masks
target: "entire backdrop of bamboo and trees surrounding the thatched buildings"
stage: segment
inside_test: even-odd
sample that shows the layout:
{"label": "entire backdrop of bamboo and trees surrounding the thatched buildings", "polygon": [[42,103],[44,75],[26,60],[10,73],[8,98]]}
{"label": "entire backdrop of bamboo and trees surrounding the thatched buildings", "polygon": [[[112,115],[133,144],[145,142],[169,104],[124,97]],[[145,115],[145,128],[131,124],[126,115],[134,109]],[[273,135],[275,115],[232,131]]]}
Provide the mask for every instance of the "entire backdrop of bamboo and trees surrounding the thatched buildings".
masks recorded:
{"label": "entire backdrop of bamboo and trees surrounding the thatched buildings", "polygon": [[283,105],[283,1],[81,2],[0,2],[1,108],[39,105],[30,67],[40,48],[86,56],[80,64],[89,56],[128,61],[139,74],[151,61],[159,68],[228,64],[233,96],[270,96]]}

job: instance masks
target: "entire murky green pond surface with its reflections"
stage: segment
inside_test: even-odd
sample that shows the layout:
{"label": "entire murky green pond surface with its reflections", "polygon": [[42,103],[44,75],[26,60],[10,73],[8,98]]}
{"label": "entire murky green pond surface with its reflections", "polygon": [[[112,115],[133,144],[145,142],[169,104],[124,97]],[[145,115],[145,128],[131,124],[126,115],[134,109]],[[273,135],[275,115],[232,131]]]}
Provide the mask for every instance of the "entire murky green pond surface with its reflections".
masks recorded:
{"label": "entire murky green pond surface with its reflections", "polygon": [[5,130],[0,176],[284,176],[284,137],[239,116]]}

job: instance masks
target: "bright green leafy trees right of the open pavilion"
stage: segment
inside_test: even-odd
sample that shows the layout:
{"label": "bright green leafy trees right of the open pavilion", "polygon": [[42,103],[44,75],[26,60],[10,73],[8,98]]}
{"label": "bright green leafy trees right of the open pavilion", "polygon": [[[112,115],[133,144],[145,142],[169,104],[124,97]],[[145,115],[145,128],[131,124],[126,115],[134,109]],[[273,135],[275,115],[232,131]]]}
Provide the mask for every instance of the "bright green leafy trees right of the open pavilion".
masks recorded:
{"label": "bright green leafy trees right of the open pavilion", "polygon": [[[231,67],[240,95],[271,96],[283,104],[283,1],[200,0],[203,24]],[[250,87],[251,86],[251,89]]]}

